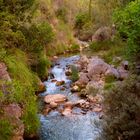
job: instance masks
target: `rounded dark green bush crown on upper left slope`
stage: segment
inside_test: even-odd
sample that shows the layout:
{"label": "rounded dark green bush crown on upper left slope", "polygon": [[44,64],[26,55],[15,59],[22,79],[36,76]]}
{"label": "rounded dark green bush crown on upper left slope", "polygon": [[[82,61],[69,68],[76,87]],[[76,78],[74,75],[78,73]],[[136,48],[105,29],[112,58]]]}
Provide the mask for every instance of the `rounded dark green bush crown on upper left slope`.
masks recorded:
{"label": "rounded dark green bush crown on upper left slope", "polygon": [[21,27],[28,42],[27,49],[30,52],[40,53],[54,38],[54,33],[49,23],[32,24],[29,28]]}

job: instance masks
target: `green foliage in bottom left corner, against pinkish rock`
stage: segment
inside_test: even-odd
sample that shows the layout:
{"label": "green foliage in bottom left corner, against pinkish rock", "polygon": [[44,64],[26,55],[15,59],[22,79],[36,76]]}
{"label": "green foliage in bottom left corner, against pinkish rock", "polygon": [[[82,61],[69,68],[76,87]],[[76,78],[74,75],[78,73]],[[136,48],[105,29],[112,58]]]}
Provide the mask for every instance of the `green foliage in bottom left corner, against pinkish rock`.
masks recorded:
{"label": "green foliage in bottom left corner, against pinkish rock", "polygon": [[12,129],[10,122],[6,119],[0,119],[0,139],[10,140],[12,136]]}

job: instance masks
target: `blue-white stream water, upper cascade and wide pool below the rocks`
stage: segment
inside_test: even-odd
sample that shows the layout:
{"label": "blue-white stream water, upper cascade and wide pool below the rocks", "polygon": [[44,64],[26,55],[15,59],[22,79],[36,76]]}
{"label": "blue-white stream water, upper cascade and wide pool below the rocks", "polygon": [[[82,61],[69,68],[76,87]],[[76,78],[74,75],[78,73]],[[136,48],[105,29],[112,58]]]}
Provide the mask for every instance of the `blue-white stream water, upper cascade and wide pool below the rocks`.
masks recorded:
{"label": "blue-white stream water, upper cascade and wide pool below the rocks", "polygon": [[[45,82],[47,91],[41,96],[59,93],[66,95],[71,102],[79,100],[77,94],[71,93],[71,80],[65,75],[67,66],[74,64],[78,59],[79,56],[59,59],[51,69],[51,73],[54,75],[53,79],[65,81],[66,90],[62,91],[61,86],[56,86],[50,77]],[[99,115],[90,111],[83,115],[81,112],[80,108],[74,108],[71,116],[62,116],[55,110],[46,116],[40,114],[40,140],[96,140],[101,133]]]}

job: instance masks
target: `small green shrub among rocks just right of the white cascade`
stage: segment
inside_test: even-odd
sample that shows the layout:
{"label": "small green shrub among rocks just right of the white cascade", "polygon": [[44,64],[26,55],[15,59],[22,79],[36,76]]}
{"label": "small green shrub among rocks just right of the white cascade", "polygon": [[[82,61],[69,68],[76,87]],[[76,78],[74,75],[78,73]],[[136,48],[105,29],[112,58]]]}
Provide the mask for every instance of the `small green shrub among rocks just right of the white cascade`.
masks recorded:
{"label": "small green shrub among rocks just right of the white cascade", "polygon": [[71,80],[73,82],[76,82],[79,79],[78,69],[76,68],[76,66],[72,65],[71,66],[71,71],[72,71]]}

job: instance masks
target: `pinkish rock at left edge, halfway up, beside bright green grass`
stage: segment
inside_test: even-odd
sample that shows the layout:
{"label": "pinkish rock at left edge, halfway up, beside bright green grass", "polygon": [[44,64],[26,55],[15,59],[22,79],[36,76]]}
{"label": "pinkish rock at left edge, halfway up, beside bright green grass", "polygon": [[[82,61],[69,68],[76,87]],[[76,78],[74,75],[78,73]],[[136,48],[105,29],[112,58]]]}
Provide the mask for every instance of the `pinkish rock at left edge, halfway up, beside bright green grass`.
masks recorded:
{"label": "pinkish rock at left edge, halfway up, beside bright green grass", "polygon": [[9,73],[7,72],[7,67],[5,63],[0,63],[0,80],[11,81]]}

